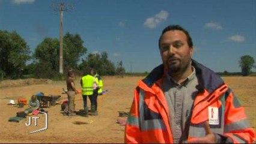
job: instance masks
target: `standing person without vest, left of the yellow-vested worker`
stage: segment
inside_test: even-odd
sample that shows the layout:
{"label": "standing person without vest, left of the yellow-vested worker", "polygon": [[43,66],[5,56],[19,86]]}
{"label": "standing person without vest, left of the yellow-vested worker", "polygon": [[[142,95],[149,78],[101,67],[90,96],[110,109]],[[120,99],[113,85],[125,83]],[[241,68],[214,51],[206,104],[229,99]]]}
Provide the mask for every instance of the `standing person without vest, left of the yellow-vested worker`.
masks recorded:
{"label": "standing person without vest, left of the yellow-vested worker", "polygon": [[73,71],[69,71],[67,73],[67,98],[68,98],[68,103],[66,109],[64,109],[64,113],[68,116],[75,116],[76,113],[75,111],[75,96],[76,96],[76,88],[75,88],[75,83],[74,83],[74,77],[75,74]]}

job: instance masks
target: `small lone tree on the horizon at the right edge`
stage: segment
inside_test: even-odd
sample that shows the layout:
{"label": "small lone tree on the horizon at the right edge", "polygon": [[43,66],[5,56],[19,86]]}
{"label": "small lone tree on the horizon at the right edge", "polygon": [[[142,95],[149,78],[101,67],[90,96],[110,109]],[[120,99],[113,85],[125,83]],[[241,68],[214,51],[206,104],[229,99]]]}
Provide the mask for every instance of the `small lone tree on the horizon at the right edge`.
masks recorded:
{"label": "small lone tree on the horizon at the right edge", "polygon": [[241,56],[239,66],[243,76],[248,76],[251,73],[251,68],[254,67],[254,58],[249,55]]}

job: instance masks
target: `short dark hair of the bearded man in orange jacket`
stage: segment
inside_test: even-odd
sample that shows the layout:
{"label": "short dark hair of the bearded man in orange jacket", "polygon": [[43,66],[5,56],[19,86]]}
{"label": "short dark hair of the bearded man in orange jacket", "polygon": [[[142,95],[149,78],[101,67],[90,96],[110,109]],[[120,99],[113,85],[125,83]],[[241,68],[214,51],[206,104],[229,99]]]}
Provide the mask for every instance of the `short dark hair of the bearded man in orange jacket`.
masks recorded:
{"label": "short dark hair of the bearded man in orange jacket", "polygon": [[187,37],[187,44],[189,44],[189,47],[193,47],[192,38],[190,37],[189,32],[186,29],[182,28],[180,25],[168,25],[168,26],[166,26],[165,29],[163,29],[162,34],[160,35],[160,38],[158,40],[159,49],[160,49],[160,41],[161,41],[163,34],[165,34],[165,32],[167,32],[167,31],[175,31],[175,30],[183,31]]}

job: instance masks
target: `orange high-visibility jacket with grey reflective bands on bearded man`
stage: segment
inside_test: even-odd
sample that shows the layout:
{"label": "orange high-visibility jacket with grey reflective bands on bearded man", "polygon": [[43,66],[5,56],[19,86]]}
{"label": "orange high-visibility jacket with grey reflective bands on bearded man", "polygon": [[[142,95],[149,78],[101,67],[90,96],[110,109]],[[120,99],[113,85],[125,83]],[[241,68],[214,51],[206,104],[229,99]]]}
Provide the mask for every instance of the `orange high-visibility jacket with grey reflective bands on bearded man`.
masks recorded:
{"label": "orange high-visibility jacket with grey reflective bands on bearded man", "polygon": [[[209,121],[213,133],[224,137],[222,142],[254,142],[254,129],[231,89],[209,68],[194,60],[192,65],[198,78],[198,94],[190,110],[190,120],[184,128],[187,132],[183,133],[183,139],[206,136],[204,122]],[[127,119],[126,143],[173,143],[168,103],[161,89],[163,76],[163,65],[159,65],[138,83]]]}

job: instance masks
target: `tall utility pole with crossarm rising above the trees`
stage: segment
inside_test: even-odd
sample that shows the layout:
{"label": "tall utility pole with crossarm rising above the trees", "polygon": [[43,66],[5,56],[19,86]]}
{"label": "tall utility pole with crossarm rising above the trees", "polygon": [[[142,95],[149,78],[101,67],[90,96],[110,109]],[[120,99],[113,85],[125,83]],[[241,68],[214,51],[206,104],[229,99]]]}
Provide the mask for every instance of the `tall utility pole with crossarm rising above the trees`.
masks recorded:
{"label": "tall utility pole with crossarm rising above the trees", "polygon": [[[52,4],[52,7],[55,7],[55,4]],[[53,9],[54,11],[60,11],[61,12],[61,25],[59,29],[59,73],[63,73],[63,16],[64,11],[68,11],[68,7],[73,8],[73,5],[66,5],[64,2],[61,2],[59,4],[59,9]]]}

